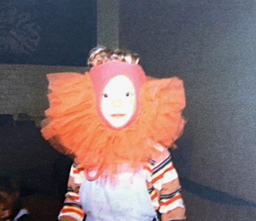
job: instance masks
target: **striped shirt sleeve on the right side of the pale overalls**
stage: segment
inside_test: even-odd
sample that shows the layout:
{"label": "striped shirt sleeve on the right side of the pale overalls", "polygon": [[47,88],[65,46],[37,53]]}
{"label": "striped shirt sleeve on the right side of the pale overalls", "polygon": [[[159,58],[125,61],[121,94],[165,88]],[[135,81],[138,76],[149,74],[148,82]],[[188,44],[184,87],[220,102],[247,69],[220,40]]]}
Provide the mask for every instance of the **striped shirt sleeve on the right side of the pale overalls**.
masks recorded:
{"label": "striped shirt sleeve on the right side of the pale overalls", "polygon": [[185,220],[180,181],[168,150],[164,150],[160,159],[152,161],[149,168],[148,192],[162,221]]}

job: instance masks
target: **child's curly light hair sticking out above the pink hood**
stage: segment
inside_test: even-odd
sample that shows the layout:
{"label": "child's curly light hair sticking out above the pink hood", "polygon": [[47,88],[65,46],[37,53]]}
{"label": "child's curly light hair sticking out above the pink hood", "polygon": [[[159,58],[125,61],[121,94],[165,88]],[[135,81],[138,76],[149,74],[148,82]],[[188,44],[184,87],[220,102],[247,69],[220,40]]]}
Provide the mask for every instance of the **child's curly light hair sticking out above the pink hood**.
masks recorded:
{"label": "child's curly light hair sticking out above the pink hood", "polygon": [[140,57],[124,49],[112,50],[105,47],[96,47],[89,52],[88,66],[93,67],[108,61],[118,60],[129,64],[138,64]]}

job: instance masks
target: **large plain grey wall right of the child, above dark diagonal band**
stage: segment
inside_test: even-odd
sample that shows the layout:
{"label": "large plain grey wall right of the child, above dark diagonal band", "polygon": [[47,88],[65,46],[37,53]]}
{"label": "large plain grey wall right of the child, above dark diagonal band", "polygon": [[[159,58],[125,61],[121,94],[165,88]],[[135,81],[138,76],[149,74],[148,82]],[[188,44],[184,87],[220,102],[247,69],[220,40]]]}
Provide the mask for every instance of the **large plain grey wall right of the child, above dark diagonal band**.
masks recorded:
{"label": "large plain grey wall right of the child, above dark diagonal band", "polygon": [[255,11],[255,1],[120,1],[121,46],[140,54],[149,75],[184,80],[181,175],[251,201]]}

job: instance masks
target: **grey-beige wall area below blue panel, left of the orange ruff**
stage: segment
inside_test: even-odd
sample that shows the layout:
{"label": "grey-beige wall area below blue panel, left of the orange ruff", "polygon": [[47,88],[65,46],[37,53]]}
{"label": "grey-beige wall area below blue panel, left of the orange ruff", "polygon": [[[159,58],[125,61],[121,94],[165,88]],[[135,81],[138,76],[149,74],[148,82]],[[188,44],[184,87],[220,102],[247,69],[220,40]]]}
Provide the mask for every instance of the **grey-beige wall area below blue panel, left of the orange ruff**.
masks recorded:
{"label": "grey-beige wall area below blue panel, left of the orange ruff", "polygon": [[48,108],[46,74],[84,73],[87,67],[0,64],[0,114],[28,114],[39,127]]}

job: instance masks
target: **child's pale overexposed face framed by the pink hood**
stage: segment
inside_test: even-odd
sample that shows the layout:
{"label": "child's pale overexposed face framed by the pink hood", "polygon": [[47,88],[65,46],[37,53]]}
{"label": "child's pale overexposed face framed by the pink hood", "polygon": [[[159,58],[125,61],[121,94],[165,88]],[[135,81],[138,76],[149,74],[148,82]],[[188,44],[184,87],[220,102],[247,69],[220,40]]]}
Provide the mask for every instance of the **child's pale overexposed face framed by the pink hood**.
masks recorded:
{"label": "child's pale overexposed face framed by the pink hood", "polygon": [[100,108],[103,116],[114,127],[124,126],[136,106],[135,89],[124,75],[112,78],[103,90]]}

